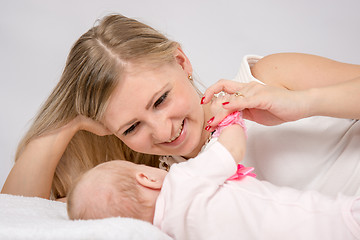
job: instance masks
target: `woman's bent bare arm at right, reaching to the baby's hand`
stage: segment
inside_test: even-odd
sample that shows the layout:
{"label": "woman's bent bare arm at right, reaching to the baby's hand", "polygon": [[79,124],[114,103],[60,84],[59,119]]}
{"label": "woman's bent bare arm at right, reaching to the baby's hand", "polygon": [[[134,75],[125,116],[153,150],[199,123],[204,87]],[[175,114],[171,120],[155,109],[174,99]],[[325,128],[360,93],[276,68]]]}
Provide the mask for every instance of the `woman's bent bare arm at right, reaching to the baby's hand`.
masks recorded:
{"label": "woman's bent bare arm at right, reaching to the baby's hand", "polygon": [[242,96],[224,108],[244,109],[244,118],[264,125],[315,115],[360,118],[359,65],[306,54],[275,54],[255,64],[252,73],[266,85],[221,80],[206,90],[204,103],[219,91],[239,91]]}

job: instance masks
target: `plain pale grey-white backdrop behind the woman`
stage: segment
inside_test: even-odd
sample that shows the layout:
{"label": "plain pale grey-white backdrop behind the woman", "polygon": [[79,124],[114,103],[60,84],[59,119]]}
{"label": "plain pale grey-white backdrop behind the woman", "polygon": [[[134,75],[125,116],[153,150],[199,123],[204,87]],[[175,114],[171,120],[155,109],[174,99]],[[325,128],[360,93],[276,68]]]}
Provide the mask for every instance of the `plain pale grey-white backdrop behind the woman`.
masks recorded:
{"label": "plain pale grey-white backdrop behind the woman", "polygon": [[249,53],[360,64],[359,10],[358,0],[0,0],[0,187],[71,45],[106,14],[134,17],[180,42],[208,86],[234,77]]}

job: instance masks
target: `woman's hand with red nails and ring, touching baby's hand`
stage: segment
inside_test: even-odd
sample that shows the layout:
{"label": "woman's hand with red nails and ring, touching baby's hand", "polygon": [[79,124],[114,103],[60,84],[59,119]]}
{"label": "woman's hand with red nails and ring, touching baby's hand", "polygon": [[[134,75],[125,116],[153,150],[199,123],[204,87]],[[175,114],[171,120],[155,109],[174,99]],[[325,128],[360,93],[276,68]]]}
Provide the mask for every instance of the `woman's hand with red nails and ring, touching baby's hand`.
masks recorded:
{"label": "woman's hand with red nails and ring, touching baby's hand", "polygon": [[[223,104],[228,113],[243,111],[244,118],[263,125],[277,125],[308,116],[307,91],[291,91],[256,82],[220,80],[206,90],[202,102],[210,102],[213,95],[221,91],[230,94]],[[221,117],[224,116],[216,116],[211,126],[220,122]]]}

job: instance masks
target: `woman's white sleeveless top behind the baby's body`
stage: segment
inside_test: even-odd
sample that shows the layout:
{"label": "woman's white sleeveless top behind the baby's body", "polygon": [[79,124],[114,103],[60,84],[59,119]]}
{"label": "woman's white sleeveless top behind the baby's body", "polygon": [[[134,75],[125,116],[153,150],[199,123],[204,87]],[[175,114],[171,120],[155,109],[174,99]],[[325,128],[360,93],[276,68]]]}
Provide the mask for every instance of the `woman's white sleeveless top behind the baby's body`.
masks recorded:
{"label": "woman's white sleeveless top behind the baby's body", "polygon": [[[245,56],[235,81],[258,81],[250,66],[261,57]],[[360,122],[310,117],[278,126],[247,121],[247,149],[243,161],[255,167],[258,179],[279,186],[318,190],[336,196],[360,194]],[[185,161],[174,156],[162,161]]]}

